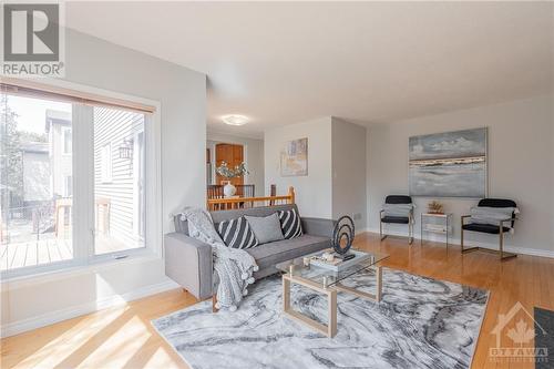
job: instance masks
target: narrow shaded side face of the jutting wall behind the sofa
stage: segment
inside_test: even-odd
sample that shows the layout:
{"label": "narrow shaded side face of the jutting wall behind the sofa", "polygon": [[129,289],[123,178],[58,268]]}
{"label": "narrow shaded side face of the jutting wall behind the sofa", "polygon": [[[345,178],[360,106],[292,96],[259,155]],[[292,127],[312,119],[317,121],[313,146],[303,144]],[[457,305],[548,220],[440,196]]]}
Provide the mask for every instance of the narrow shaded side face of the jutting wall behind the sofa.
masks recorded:
{"label": "narrow shaded side face of the jutting wall behind the sofa", "polygon": [[349,215],[367,226],[366,127],[332,117],[332,218]]}

